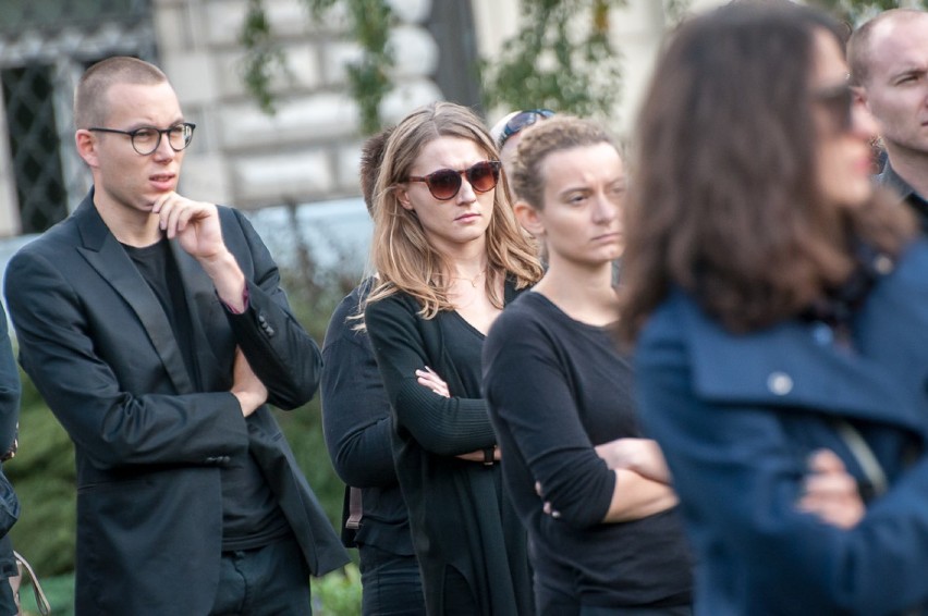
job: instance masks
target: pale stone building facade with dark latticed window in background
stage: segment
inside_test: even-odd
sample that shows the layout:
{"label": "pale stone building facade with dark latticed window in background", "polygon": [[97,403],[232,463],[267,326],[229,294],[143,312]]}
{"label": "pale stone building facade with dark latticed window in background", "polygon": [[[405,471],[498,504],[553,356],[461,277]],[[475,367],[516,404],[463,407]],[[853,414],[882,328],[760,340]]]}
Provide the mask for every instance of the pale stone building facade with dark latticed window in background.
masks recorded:
{"label": "pale stone building facade with dark latticed window in background", "polygon": [[[528,1],[528,0],[524,0]],[[694,10],[719,1],[694,0]],[[3,0],[0,20],[0,237],[39,233],[89,187],[73,147],[71,97],[91,63],[137,56],[171,77],[197,124],[181,190],[257,209],[355,196],[362,141],[345,65],[359,57],[338,8],[321,22],[305,0],[265,0],[281,44],[277,113],[264,113],[242,78],[247,0]],[[630,0],[611,15],[623,54],[613,128],[628,131],[668,27],[663,2]],[[388,122],[436,99],[478,104],[469,65],[492,58],[518,23],[518,0],[392,0],[395,88]],[[489,110],[488,122],[508,110]]]}

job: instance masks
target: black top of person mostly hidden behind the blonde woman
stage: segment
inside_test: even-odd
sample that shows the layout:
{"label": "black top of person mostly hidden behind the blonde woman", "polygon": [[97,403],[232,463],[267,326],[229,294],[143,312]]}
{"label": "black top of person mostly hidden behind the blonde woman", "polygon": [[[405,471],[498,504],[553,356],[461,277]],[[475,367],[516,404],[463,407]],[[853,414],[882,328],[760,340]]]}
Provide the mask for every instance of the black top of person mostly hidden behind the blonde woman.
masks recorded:
{"label": "black top of person mostly hidden behind the blonde woman", "polygon": [[[346,543],[376,545],[408,556],[413,539],[393,468],[390,401],[367,332],[356,329],[359,319],[352,319],[370,284],[368,279],[355,287],[329,321],[322,345],[322,428],[335,472],[347,485],[361,488],[361,528]],[[349,514],[347,495],[345,501],[343,518]]]}

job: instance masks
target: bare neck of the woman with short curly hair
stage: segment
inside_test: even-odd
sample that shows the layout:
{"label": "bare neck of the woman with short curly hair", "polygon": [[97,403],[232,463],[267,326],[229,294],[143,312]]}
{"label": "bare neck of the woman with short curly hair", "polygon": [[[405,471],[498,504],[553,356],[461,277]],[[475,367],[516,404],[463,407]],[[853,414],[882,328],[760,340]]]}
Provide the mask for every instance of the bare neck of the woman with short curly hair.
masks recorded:
{"label": "bare neck of the woman with short curly hair", "polygon": [[547,297],[575,321],[603,327],[619,319],[611,262],[588,267],[552,256],[548,271],[533,291]]}

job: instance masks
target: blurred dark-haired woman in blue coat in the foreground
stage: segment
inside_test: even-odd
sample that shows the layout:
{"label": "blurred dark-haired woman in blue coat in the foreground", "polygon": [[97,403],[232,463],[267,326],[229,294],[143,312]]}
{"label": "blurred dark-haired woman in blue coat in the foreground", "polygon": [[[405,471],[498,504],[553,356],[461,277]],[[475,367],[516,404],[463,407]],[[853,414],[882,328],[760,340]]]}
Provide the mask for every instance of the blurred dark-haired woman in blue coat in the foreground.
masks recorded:
{"label": "blurred dark-haired woman in blue coat in the foreground", "polygon": [[643,106],[620,325],[699,614],[928,600],[928,246],[846,78],[830,19],[743,2],[675,33]]}

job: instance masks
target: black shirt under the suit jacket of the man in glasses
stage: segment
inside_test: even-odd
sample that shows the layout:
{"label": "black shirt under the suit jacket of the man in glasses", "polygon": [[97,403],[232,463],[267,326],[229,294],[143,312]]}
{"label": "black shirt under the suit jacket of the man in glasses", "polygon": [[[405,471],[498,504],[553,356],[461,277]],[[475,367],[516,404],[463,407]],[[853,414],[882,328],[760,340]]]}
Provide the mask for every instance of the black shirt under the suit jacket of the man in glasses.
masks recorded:
{"label": "black shirt under the suit jacket of the man in glasses", "polygon": [[[142,248],[123,244],[123,248],[158,297],[187,371],[196,381],[199,370],[192,342],[193,325],[168,238]],[[222,550],[260,547],[289,532],[283,513],[255,459],[249,453],[232,456],[222,468]]]}

